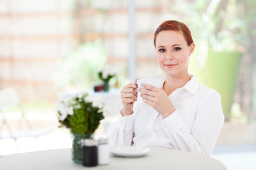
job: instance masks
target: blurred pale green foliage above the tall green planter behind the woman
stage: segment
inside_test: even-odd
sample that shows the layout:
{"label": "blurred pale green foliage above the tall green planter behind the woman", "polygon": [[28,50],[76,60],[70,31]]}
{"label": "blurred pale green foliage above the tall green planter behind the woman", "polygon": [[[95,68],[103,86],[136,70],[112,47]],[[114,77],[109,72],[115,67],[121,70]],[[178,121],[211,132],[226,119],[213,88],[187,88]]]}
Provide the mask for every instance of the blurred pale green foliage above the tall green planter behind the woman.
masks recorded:
{"label": "blurred pale green foliage above the tall green planter behind the woman", "polygon": [[238,0],[175,1],[172,10],[176,14],[164,18],[182,21],[191,29],[196,43],[189,68],[191,72],[204,72],[208,50],[245,51],[247,22],[238,4]]}

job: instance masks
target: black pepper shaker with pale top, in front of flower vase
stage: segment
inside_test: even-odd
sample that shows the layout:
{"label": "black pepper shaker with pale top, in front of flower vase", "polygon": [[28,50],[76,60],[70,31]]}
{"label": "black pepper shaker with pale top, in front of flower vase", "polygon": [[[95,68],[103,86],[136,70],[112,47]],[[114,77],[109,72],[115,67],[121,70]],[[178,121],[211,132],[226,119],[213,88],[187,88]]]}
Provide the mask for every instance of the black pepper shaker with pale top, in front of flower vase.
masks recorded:
{"label": "black pepper shaker with pale top, in front of flower vase", "polygon": [[86,139],[82,144],[82,165],[97,166],[97,140]]}

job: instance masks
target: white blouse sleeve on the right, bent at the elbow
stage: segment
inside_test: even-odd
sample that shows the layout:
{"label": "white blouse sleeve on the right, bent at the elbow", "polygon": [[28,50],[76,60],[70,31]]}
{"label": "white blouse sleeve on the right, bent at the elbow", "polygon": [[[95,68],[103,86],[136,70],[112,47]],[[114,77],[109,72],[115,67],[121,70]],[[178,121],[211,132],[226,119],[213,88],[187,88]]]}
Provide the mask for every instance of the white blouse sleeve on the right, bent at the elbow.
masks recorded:
{"label": "white blouse sleeve on the right, bent at the elbow", "polygon": [[175,149],[210,155],[223,122],[220,94],[210,91],[198,103],[198,112],[191,129],[187,128],[178,111],[163,119],[161,123]]}

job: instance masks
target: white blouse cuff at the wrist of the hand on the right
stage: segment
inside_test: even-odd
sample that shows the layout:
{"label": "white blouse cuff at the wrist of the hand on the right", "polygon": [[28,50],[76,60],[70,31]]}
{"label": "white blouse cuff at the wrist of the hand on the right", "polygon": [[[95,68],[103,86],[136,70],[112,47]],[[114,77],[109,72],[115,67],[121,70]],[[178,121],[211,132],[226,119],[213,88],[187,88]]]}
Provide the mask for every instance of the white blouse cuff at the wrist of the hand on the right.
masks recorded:
{"label": "white blouse cuff at the wrist of the hand on the right", "polygon": [[161,120],[161,124],[166,134],[173,133],[185,125],[177,110],[167,118]]}

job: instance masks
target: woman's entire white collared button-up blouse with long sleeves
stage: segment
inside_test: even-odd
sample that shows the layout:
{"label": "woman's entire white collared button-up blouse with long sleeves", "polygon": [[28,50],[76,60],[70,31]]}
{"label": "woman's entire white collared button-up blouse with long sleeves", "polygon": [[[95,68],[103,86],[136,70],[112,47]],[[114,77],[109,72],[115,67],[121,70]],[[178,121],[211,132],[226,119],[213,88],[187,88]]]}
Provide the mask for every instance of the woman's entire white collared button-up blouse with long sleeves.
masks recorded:
{"label": "woman's entire white collared button-up blouse with long sleeves", "polygon": [[[161,79],[163,86],[166,77]],[[176,111],[163,119],[138,95],[132,115],[119,114],[109,128],[111,146],[167,147],[210,155],[223,127],[220,94],[196,77],[169,98]]]}

